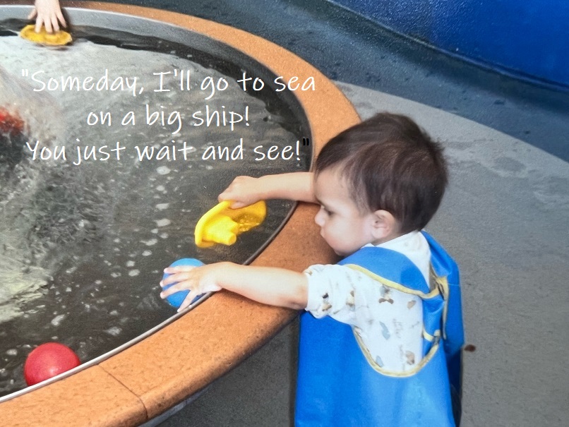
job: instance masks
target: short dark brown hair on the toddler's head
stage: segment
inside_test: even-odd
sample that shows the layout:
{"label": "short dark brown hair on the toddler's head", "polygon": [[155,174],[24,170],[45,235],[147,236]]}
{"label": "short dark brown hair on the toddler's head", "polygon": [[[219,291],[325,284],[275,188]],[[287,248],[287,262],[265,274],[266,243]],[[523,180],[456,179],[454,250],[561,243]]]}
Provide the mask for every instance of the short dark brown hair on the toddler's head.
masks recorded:
{"label": "short dark brown hair on the toddler's head", "polygon": [[426,226],[448,182],[442,146],[398,114],[376,114],[332,138],[315,173],[332,167],[340,168],[362,211],[390,212],[402,233]]}

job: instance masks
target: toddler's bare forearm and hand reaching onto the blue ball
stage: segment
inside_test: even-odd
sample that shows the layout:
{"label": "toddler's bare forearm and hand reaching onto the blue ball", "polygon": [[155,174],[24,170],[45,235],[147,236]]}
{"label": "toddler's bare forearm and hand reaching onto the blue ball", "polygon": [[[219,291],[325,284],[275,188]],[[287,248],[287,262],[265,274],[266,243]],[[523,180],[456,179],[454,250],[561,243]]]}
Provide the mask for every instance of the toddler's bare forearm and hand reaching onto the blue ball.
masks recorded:
{"label": "toddler's bare forearm and hand reaching onto the blue ball", "polygon": [[292,270],[273,267],[254,267],[234,263],[216,263],[201,267],[168,267],[169,277],[160,286],[176,283],[162,291],[166,298],[176,291],[189,289],[178,311],[184,310],[200,294],[227,289],[260,303],[301,310],[308,300],[306,275]]}

